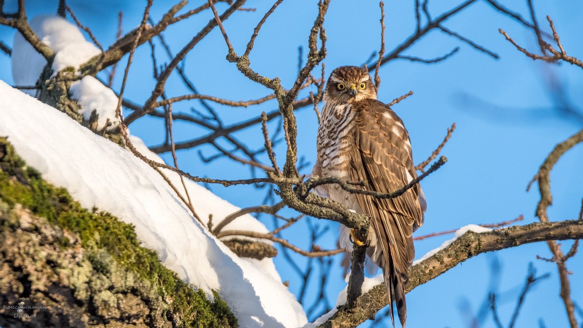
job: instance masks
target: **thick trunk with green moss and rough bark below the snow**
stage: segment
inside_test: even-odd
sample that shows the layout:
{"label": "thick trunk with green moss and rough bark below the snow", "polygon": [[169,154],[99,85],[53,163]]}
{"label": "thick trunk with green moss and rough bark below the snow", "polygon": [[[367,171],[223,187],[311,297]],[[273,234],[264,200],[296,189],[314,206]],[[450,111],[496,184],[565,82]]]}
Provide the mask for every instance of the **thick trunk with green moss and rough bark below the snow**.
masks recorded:
{"label": "thick trunk with green moss and rough bark below the snow", "polygon": [[[0,281],[4,304],[16,305],[24,298],[32,306],[59,299],[63,304],[51,303],[55,313],[45,309],[44,319],[59,316],[67,322],[61,321],[63,326],[78,322],[77,315],[85,312],[93,318],[89,325],[113,320],[147,326],[237,326],[219,295],[209,301],[201,289],[164,267],[156,252],[139,246],[134,226],[96,208],[82,208],[66,190],[44,182],[37,170],[27,167],[5,138],[0,138],[0,204],[0,244],[12,240],[16,248],[9,249],[21,249],[11,251],[13,259],[8,249],[2,252],[2,277],[12,277]],[[42,319],[41,312],[37,317]],[[12,315],[2,312],[0,321]]]}

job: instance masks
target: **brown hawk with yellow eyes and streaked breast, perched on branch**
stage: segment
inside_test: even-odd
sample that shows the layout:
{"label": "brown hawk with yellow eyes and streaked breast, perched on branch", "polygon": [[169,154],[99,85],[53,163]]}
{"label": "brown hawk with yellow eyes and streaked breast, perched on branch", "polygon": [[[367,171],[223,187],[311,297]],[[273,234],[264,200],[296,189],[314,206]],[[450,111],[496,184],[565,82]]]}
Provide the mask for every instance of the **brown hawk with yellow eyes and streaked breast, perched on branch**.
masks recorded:
{"label": "brown hawk with yellow eyes and streaked breast, perched on branch", "polygon": [[[417,177],[403,121],[377,100],[373,81],[361,67],[343,66],[332,71],[324,93],[317,149],[315,176],[361,181],[363,189],[380,193],[399,190]],[[412,233],[423,224],[426,209],[421,187],[417,183],[401,196],[386,199],[349,193],[338,184],[321,185],[316,191],[371,218],[368,240],[363,241],[368,243],[367,256],[382,268],[393,324],[395,301],[405,327],[403,288],[415,257]],[[349,236],[350,229],[342,226],[340,243],[346,248],[352,248]]]}

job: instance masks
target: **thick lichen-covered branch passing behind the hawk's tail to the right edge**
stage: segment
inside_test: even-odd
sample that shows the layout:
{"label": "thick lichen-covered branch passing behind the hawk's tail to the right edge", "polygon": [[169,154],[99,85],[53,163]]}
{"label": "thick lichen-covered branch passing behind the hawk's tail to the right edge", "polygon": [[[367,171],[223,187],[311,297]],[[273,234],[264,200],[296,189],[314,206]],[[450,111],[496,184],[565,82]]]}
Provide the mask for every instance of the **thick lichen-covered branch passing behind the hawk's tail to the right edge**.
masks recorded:
{"label": "thick lichen-covered branch passing behind the hawk's tail to the right edge", "polygon": [[[415,287],[436,278],[477,254],[526,243],[581,238],[583,238],[583,221],[537,222],[482,233],[466,232],[445,249],[411,267],[409,284],[405,286],[405,292],[412,291]],[[357,298],[354,307],[340,306],[338,312],[319,327],[356,327],[370,317],[374,317],[375,313],[386,305],[387,289],[384,284],[379,284]]]}

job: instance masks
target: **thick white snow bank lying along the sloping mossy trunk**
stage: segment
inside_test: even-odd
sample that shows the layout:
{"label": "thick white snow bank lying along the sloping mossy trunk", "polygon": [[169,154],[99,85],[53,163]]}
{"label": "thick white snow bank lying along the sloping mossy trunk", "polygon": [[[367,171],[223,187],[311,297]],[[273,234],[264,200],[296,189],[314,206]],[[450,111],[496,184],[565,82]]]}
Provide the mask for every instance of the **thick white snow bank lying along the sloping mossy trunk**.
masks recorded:
{"label": "thick white snow bank lying along the sloping mossy trunk", "polygon": [[[3,81],[0,99],[0,135],[8,136],[29,165],[65,187],[83,207],[96,205],[134,224],[139,239],[182,279],[206,292],[219,290],[241,326],[298,327],[307,322],[295,297],[273,272],[265,272],[273,268],[271,260],[257,266],[258,261],[231,253],[142,160]],[[220,218],[237,210],[202,186],[189,183],[189,189],[201,217],[212,212]]]}

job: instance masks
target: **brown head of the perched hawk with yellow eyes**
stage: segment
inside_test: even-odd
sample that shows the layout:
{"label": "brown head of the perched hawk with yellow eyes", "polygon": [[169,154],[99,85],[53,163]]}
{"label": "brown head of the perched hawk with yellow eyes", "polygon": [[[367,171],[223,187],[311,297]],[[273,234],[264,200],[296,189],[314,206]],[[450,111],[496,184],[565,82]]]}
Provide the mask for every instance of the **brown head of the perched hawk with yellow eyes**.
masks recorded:
{"label": "brown head of the perched hawk with yellow eyes", "polygon": [[373,81],[365,68],[341,66],[332,71],[326,83],[324,102],[352,103],[377,99]]}

